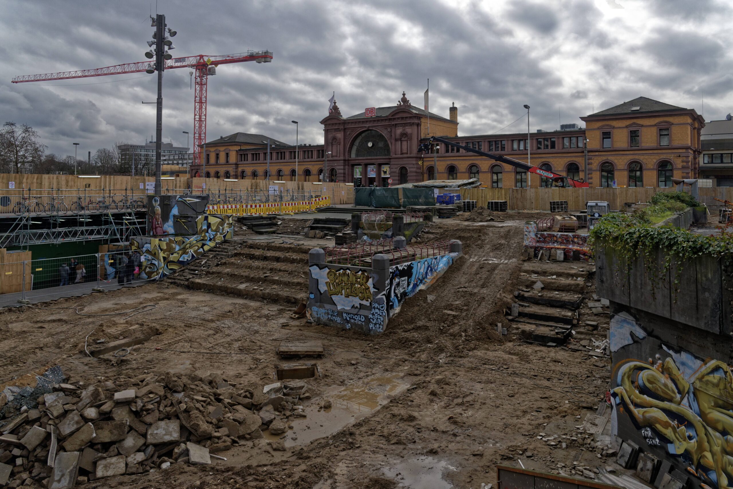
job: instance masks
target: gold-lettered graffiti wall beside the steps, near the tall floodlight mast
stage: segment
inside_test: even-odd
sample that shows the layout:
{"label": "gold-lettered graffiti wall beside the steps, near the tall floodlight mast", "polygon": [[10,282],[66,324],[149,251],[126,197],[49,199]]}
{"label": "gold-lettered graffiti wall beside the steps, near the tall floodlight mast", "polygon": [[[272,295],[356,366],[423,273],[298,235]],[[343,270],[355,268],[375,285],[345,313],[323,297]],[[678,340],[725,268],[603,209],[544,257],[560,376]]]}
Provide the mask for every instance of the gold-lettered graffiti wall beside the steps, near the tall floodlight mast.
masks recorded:
{"label": "gold-lettered graffiti wall beside the steps, near the tall floodlight mast", "polygon": [[130,248],[141,253],[142,279],[162,279],[218,243],[232,238],[233,216],[202,214],[195,218],[194,235],[139,236],[130,240]]}

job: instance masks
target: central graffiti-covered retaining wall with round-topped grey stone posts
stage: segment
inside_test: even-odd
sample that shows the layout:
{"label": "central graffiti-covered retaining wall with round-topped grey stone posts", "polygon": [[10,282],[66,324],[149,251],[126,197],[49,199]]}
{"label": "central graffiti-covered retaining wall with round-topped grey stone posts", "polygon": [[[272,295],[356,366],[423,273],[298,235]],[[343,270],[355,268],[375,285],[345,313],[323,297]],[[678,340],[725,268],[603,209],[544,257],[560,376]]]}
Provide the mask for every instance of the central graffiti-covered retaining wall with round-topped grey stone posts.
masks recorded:
{"label": "central graffiti-covered retaining wall with round-topped grey stone posts", "polygon": [[[396,238],[397,246],[405,246]],[[401,243],[401,244],[399,244]],[[460,241],[451,241],[447,254],[391,264],[386,254],[375,254],[371,268],[325,262],[325,251],[309,253],[308,312],[315,323],[382,333],[390,317],[405,301],[430,287],[462,254]]]}

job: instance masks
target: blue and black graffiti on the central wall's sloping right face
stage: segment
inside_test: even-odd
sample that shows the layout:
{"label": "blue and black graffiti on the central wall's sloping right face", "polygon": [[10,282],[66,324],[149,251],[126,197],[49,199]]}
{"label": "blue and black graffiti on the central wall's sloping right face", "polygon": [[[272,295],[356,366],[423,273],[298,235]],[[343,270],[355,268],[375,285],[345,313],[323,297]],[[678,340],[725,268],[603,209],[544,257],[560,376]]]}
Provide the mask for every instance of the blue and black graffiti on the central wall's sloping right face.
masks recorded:
{"label": "blue and black graffiti on the central wall's sloping right face", "polygon": [[399,309],[406,298],[430,287],[452,265],[453,259],[454,254],[443,254],[391,267],[390,287],[388,287],[390,314],[393,314],[393,311],[396,313],[395,309]]}

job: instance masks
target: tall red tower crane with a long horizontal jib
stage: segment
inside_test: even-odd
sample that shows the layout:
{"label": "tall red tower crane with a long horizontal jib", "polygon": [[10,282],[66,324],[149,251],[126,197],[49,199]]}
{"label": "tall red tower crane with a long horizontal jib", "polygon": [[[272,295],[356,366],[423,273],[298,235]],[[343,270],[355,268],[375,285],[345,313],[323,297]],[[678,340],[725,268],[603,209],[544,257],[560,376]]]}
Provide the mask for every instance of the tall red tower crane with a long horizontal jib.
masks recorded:
{"label": "tall red tower crane with a long horizontal jib", "polygon": [[[183,56],[166,61],[166,70],[172,68],[191,68],[195,71],[196,83],[194,89],[194,161],[202,163],[200,147],[206,142],[206,93],[207,78],[216,74],[218,65],[231,65],[255,61],[258,63],[272,62],[272,51],[247,51],[238,54],[223,54],[221,56]],[[140,73],[152,69],[154,63],[143,61],[125,63],[92,70],[62,71],[60,73],[44,73],[42,75],[23,75],[12,78],[12,83],[26,83],[29,81],[66,80],[68,78],[89,78],[92,76],[122,75],[123,73]]]}

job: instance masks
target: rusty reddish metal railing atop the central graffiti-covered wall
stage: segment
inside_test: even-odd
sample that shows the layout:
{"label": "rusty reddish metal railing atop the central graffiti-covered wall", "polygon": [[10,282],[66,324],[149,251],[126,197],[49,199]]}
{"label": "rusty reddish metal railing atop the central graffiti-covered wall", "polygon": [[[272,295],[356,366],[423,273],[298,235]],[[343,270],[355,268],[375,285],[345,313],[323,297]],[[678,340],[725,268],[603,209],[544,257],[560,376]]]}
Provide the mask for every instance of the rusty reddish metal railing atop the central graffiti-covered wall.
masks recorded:
{"label": "rusty reddish metal railing atop the central graffiti-covered wall", "polygon": [[386,254],[391,265],[438,257],[450,252],[450,241],[441,240],[432,243],[412,243],[398,248],[394,238],[386,240],[359,241],[342,246],[325,248],[325,262],[334,265],[365,266],[370,265],[375,254]]}

